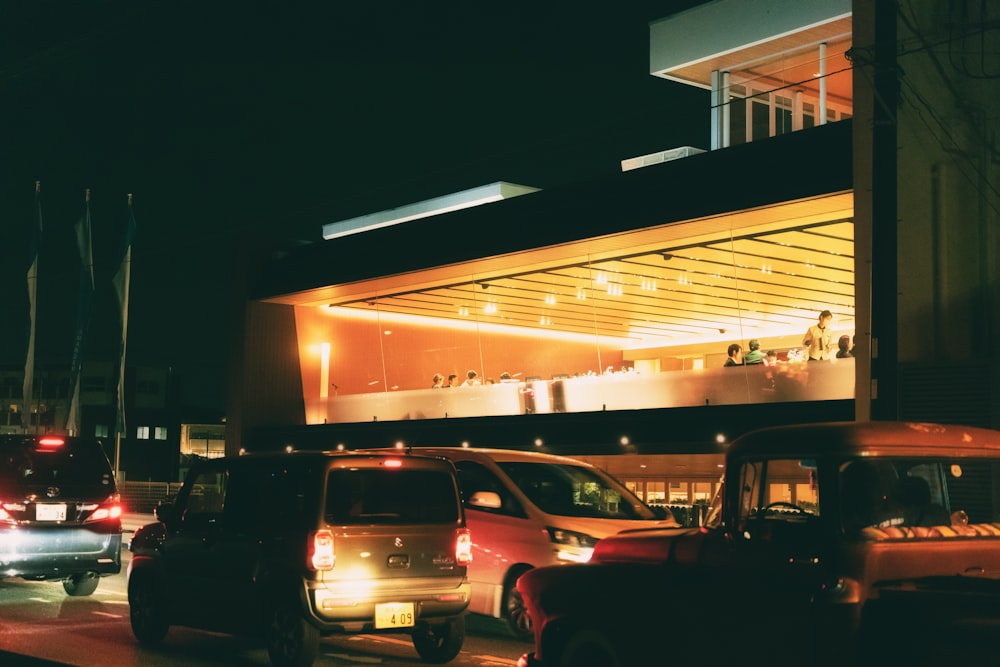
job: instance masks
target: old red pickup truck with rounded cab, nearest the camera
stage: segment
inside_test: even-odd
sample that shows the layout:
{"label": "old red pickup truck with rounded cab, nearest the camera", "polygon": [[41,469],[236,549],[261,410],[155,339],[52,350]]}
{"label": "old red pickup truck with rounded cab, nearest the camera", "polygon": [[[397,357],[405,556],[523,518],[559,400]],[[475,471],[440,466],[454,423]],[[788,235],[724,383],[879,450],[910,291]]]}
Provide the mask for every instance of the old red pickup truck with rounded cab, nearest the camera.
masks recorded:
{"label": "old red pickup truck with rounded cab, nearest the camera", "polygon": [[719,496],[700,528],[522,575],[520,665],[1000,664],[1000,432],[762,429]]}

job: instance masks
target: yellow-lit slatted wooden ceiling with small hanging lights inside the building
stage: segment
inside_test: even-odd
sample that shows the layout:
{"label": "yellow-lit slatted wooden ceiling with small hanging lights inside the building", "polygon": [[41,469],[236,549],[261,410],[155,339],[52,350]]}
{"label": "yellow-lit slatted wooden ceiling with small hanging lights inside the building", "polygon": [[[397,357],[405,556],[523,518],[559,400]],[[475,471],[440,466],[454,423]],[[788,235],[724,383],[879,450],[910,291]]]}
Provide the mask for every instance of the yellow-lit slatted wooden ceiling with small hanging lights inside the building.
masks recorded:
{"label": "yellow-lit slatted wooden ceiling with small hanging lights inside the building", "polygon": [[[344,308],[680,344],[798,333],[829,308],[854,319],[850,220],[730,230],[641,254],[368,296]],[[680,240],[679,241],[685,241]],[[747,333],[749,332],[749,333]]]}

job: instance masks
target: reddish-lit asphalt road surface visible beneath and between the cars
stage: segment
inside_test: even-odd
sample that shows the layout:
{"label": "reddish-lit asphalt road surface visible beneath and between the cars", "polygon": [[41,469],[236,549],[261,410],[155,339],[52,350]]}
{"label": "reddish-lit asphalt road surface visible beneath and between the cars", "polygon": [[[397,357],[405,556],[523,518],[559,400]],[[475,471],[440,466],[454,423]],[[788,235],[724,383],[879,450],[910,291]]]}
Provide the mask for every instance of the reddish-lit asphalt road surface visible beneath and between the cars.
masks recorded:
{"label": "reddish-lit asphalt road surface visible beneath and between the cars", "polygon": [[[125,542],[150,515],[126,521]],[[122,573],[104,578],[90,597],[73,598],[59,582],[0,580],[2,667],[268,667],[267,652],[246,639],[174,627],[154,648],[139,646],[128,621]],[[470,615],[468,635],[452,667],[514,667],[530,645],[506,635],[491,618]],[[421,665],[405,635],[340,635],[324,639],[317,667]]]}

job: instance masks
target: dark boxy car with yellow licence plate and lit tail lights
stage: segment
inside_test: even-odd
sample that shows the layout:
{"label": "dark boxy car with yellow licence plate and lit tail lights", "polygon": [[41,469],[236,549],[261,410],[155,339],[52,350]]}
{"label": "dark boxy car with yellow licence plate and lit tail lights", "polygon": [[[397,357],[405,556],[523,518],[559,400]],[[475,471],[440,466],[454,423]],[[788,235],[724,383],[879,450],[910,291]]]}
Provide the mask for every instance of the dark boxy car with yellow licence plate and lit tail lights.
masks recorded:
{"label": "dark boxy car with yellow licence plate and lit tail lights", "polygon": [[446,459],[295,452],[196,463],[130,548],[132,630],[266,641],[309,665],[321,635],[407,633],[423,660],[461,650],[471,540]]}

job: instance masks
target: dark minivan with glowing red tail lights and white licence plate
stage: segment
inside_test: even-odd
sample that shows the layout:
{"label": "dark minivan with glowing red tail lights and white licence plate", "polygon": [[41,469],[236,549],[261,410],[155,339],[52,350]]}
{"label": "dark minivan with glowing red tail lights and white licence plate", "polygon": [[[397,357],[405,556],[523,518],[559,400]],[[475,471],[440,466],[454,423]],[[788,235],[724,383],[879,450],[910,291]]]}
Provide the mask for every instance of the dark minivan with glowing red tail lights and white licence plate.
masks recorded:
{"label": "dark minivan with glowing red tail lights and white licence plate", "polygon": [[0,435],[0,576],[90,595],[121,572],[121,513],[99,440]]}

